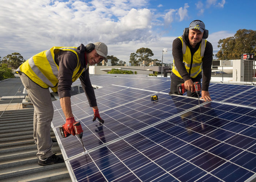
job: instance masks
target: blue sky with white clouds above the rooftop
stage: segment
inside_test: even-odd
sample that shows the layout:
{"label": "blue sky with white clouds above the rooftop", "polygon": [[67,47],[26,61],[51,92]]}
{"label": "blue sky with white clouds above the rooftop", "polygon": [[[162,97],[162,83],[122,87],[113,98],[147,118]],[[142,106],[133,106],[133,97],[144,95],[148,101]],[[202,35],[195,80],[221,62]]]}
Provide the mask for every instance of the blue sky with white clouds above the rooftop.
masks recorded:
{"label": "blue sky with white clouds above the rooftop", "polygon": [[256,30],[255,7],[253,0],[0,0],[0,56],[27,60],[53,46],[101,41],[126,63],[141,47],[172,63],[172,42],[193,20],[205,23],[215,55],[220,39]]}

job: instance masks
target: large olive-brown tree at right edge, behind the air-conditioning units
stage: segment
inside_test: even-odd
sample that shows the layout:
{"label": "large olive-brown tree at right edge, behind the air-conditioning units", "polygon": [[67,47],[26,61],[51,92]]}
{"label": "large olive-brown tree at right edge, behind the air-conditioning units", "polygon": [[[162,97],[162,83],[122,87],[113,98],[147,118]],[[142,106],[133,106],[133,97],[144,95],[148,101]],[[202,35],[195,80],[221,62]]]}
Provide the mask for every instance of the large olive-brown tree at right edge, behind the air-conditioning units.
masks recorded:
{"label": "large olive-brown tree at right edge, behind the air-conditioning units", "polygon": [[233,37],[221,39],[218,47],[221,49],[215,55],[218,59],[240,59],[241,54],[256,52],[256,31],[239,29]]}

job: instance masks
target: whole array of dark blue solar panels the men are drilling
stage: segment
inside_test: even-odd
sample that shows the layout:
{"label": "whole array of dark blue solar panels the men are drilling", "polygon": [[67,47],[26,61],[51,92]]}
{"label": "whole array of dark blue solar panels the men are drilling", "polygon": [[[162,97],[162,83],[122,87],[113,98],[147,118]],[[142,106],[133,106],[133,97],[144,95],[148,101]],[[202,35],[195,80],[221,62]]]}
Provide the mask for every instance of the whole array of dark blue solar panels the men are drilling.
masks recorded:
{"label": "whole array of dark blue solar panels the men are drilling", "polygon": [[[167,94],[167,78],[91,75],[91,82],[102,86],[95,95],[103,125],[92,122],[85,94],[71,97],[85,154],[77,137],[60,138],[65,119],[53,102],[52,126],[74,181],[256,178],[255,86],[211,84],[215,100],[199,107],[197,99]],[[155,94],[158,102],[151,102]]]}

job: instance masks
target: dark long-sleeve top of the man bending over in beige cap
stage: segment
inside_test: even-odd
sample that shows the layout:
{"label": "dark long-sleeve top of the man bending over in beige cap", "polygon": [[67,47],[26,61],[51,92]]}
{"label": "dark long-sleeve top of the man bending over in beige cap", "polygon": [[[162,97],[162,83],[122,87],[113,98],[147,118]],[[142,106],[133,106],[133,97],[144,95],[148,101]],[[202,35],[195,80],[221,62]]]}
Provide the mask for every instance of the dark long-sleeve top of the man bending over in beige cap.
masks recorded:
{"label": "dark long-sleeve top of the man bending over in beige cap", "polygon": [[[81,68],[86,67],[85,63],[85,47],[83,44],[77,48],[78,56],[81,62]],[[59,65],[58,71],[58,94],[60,98],[70,97],[70,90],[72,85],[72,76],[73,72],[78,64],[77,56],[71,51],[62,51],[58,50],[54,52],[55,62]],[[91,107],[97,106],[96,97],[94,93],[94,88],[91,86],[91,81],[89,77],[89,68],[85,70],[82,75],[80,75],[80,81],[83,87],[83,90],[88,99],[89,105]]]}

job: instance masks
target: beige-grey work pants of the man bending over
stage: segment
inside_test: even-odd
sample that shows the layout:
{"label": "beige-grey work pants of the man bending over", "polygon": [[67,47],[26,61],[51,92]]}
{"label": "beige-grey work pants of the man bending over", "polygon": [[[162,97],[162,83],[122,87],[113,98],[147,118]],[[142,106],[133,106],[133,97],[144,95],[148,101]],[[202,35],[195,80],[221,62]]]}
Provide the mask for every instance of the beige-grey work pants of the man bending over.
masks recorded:
{"label": "beige-grey work pants of the man bending over", "polygon": [[23,86],[34,106],[34,140],[37,145],[37,157],[45,159],[53,155],[50,124],[53,118],[53,106],[49,89],[40,87],[26,75],[20,75]]}

